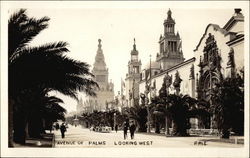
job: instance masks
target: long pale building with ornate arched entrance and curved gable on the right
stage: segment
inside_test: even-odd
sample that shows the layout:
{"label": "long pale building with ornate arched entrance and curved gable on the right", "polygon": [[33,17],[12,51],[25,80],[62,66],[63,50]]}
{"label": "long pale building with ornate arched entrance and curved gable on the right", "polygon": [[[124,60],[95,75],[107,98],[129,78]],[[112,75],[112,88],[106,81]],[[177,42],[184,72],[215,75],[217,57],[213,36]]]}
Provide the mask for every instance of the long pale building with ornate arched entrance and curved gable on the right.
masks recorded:
{"label": "long pale building with ornate arched entrance and curved gable on the right", "polygon": [[[246,52],[244,52],[244,16],[241,9],[235,9],[235,13],[224,27],[217,24],[208,24],[194,49],[193,58],[183,61],[180,46],[180,50],[175,51],[179,54],[177,55],[178,62],[175,62],[177,61],[175,59],[171,61],[171,58],[163,60],[167,58],[163,55],[164,51],[176,49],[169,48],[175,47],[173,43],[172,46],[168,42],[161,43],[161,41],[170,41],[171,39],[170,36],[166,36],[166,30],[172,31],[171,34],[174,34],[175,23],[171,20],[170,11],[168,12],[168,19],[164,22],[165,37],[161,36],[159,42],[160,55],[157,55],[156,61],[152,62],[153,64],[150,64],[151,67],[146,67],[141,72],[139,93],[145,94],[145,90],[149,86],[151,97],[159,95],[164,79],[168,79],[169,85],[167,88],[170,94],[188,94],[191,97],[209,102],[216,83],[226,77],[241,74],[244,70],[244,53]],[[176,45],[178,45],[178,42]],[[193,123],[196,125],[191,126],[198,128],[198,120],[193,120]],[[199,128],[215,128],[213,127],[213,120],[211,119],[207,126]]]}

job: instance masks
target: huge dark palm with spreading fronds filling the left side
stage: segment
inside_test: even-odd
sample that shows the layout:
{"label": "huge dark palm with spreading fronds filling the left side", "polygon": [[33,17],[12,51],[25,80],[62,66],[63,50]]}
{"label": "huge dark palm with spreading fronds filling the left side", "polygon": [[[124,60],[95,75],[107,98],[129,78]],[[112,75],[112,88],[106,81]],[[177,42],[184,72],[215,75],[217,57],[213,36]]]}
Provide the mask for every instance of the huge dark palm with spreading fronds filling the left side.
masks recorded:
{"label": "huge dark palm with spreading fronds filling the left side", "polygon": [[14,122],[20,122],[14,123],[18,143],[25,143],[27,116],[31,107],[39,106],[34,102],[36,99],[53,90],[77,99],[77,91],[95,95],[94,89],[98,87],[91,78],[88,64],[65,55],[69,52],[66,42],[29,46],[30,41],[48,27],[48,21],[48,17],[29,18],[26,10],[21,9],[11,15],[8,22],[9,137],[12,139],[14,112]]}

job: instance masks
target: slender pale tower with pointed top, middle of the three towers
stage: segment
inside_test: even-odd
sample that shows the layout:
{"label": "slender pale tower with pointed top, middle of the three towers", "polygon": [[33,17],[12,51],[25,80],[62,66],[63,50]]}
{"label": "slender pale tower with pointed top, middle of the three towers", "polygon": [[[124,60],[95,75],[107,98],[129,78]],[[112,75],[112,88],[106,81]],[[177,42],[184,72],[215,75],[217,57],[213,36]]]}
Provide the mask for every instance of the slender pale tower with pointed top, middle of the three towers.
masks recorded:
{"label": "slender pale tower with pointed top, middle of the three towers", "polygon": [[126,102],[129,107],[135,102],[139,102],[139,81],[141,72],[141,60],[138,58],[135,39],[133,49],[130,52],[130,61],[128,62],[128,73],[125,78]]}

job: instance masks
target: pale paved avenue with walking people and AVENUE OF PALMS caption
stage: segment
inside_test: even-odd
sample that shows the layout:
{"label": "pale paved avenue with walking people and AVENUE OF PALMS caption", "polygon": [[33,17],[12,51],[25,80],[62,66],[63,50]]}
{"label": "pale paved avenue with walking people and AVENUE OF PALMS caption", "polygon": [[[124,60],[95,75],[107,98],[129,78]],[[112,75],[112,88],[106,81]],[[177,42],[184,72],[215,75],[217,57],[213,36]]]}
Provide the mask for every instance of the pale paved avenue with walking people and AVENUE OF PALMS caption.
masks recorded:
{"label": "pale paved avenue with walking people and AVENUE OF PALMS caption", "polygon": [[[129,136],[130,133],[128,133]],[[99,133],[82,128],[69,126],[65,138],[61,138],[60,131],[55,131],[55,147],[243,147],[243,145],[207,142],[206,146],[194,145],[194,141],[204,138],[216,137],[165,137],[153,134],[136,133],[135,139],[123,139],[123,132]]]}

